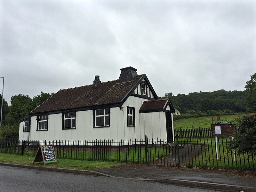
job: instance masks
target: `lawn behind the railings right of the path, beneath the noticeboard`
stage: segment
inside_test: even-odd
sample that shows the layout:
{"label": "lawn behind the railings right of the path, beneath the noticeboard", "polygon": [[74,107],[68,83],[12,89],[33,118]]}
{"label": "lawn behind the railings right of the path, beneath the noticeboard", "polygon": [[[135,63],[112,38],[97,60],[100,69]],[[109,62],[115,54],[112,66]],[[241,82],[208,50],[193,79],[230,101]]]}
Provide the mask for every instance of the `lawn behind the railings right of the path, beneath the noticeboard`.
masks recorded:
{"label": "lawn behind the railings right of the path, beneath the noticeboard", "polygon": [[[234,153],[227,150],[227,141],[230,138],[218,138],[218,159],[215,146],[215,138],[180,138],[180,143],[188,148],[187,144],[195,144],[201,146],[204,150],[199,156],[191,156],[190,162],[187,162],[188,167],[203,167],[203,168],[215,168],[215,169],[227,169],[227,170],[255,170],[256,159],[253,159],[251,154],[238,154],[236,151],[235,159]],[[185,149],[186,150],[186,149]]]}

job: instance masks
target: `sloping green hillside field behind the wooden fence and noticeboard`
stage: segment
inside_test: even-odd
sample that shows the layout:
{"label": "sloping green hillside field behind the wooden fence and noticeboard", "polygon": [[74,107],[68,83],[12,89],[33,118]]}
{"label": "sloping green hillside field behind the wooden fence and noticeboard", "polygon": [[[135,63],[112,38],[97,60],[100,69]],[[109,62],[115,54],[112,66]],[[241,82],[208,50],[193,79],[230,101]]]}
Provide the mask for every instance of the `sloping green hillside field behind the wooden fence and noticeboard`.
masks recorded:
{"label": "sloping green hillside field behind the wooden fence and noticeboard", "polygon": [[217,120],[216,116],[180,119],[173,121],[173,127],[174,129],[191,129],[192,126],[193,128],[211,128],[212,117],[213,123],[216,121],[230,121],[231,123],[236,124],[236,118],[242,115],[248,115],[248,113],[240,113],[236,115],[220,115],[220,120]]}

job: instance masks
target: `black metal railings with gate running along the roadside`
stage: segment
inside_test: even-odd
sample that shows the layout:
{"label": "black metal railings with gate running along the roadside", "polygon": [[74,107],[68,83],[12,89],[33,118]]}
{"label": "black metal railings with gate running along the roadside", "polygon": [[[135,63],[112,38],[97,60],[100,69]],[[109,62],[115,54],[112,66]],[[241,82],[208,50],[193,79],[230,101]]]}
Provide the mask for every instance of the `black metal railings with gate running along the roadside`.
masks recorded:
{"label": "black metal railings with gate running along the roadside", "polygon": [[52,144],[59,159],[255,171],[254,154],[228,150],[227,144],[231,139],[176,136],[175,141],[167,141],[145,136],[143,140],[44,140],[29,143],[24,140],[0,140],[0,153],[35,157],[39,145]]}

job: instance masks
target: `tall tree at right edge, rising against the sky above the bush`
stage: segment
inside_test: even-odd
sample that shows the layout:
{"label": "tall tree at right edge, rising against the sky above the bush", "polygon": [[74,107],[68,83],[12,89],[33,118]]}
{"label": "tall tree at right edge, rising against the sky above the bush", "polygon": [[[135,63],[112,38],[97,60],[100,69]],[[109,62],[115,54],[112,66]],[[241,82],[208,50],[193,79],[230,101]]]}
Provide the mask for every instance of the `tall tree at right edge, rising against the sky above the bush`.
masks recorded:
{"label": "tall tree at right edge, rising against the sky above the bush", "polygon": [[251,76],[250,81],[246,81],[245,90],[245,101],[248,108],[256,112],[256,73]]}

